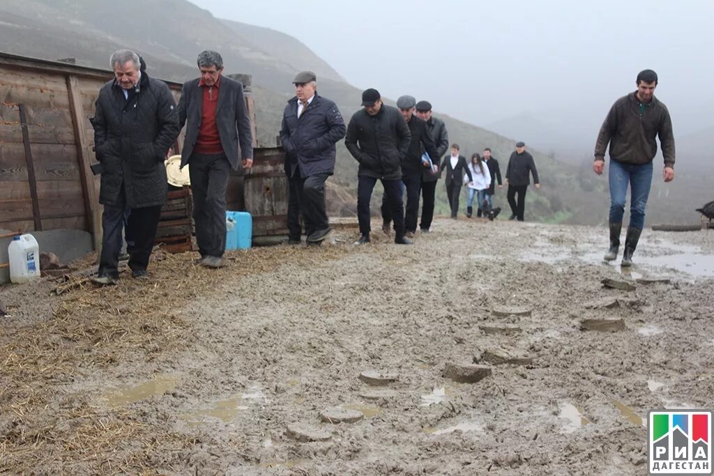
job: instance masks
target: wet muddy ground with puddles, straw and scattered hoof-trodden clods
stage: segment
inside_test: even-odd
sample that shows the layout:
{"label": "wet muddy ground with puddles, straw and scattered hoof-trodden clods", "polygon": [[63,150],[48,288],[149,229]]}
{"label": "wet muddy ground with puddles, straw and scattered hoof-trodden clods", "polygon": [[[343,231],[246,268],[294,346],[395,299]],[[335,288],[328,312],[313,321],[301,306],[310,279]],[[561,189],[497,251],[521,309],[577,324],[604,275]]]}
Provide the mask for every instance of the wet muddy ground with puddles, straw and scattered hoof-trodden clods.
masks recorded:
{"label": "wet muddy ground with puddles, straw and scattered hoof-trodden clods", "polygon": [[[712,405],[714,231],[645,231],[631,272],[600,261],[605,233],[441,219],[411,247],[339,231],[221,270],[157,253],[149,282],[0,288],[0,473],[646,474],[648,411]],[[580,330],[603,318],[624,328]],[[475,361],[491,375],[444,377]]]}

